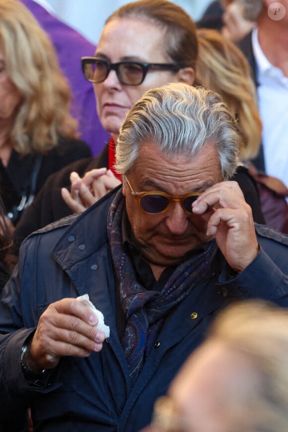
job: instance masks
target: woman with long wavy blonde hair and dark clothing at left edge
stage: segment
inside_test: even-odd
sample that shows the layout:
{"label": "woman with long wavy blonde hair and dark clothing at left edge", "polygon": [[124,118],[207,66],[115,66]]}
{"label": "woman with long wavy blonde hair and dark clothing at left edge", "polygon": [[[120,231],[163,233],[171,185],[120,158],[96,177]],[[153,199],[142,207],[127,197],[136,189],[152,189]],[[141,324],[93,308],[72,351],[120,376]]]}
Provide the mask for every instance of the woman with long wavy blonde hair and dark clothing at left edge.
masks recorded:
{"label": "woman with long wavy blonde hair and dark clothing at left edge", "polygon": [[16,225],[50,174],[91,155],[54,48],[17,0],[0,2],[0,98],[1,194]]}

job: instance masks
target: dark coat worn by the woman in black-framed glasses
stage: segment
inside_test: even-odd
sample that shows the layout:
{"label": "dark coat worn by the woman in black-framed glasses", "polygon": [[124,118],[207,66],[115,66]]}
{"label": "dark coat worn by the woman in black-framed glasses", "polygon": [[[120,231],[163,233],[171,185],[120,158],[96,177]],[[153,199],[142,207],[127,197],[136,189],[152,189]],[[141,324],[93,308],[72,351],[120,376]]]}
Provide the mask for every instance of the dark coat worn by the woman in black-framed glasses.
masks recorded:
{"label": "dark coat worn by the woman in black-framed glasses", "polygon": [[[70,173],[75,171],[80,177],[94,168],[108,167],[108,144],[96,158],[87,158],[51,175],[37,198],[26,209],[21,221],[14,232],[14,254],[18,255],[22,241],[33,231],[43,228],[45,225],[55,222],[65,216],[71,215],[72,210],[67,206],[61,195],[61,188],[70,189]],[[238,181],[246,201],[252,207],[254,221],[264,224],[259,194],[253,177],[245,167],[238,167],[233,177]]]}

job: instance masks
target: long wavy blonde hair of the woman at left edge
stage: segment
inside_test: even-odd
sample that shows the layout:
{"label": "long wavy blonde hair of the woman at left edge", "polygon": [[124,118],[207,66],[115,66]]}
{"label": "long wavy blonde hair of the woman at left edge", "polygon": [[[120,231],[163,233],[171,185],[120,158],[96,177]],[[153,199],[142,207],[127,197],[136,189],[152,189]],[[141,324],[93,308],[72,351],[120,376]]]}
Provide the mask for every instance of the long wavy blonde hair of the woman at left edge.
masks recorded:
{"label": "long wavy blonde hair of the woman at left edge", "polygon": [[47,153],[57,145],[58,135],[74,137],[71,91],[54,47],[17,0],[0,1],[0,47],[7,76],[22,96],[8,137],[15,151]]}

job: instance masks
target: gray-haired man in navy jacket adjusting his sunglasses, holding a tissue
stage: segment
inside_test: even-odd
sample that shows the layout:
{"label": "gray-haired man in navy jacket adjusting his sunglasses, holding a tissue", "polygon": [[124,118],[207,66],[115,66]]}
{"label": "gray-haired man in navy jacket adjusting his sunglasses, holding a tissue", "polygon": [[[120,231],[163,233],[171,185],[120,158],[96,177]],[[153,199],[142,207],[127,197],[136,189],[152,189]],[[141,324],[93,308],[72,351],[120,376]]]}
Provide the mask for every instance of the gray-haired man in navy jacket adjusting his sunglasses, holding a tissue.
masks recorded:
{"label": "gray-haired man in navy jacket adjusting his sunglasses, holding a tissue", "polygon": [[21,247],[0,298],[4,419],[31,406],[39,430],[138,431],[224,305],[288,305],[288,238],[229,181],[238,135],[216,93],[144,93],[116,161],[123,184]]}

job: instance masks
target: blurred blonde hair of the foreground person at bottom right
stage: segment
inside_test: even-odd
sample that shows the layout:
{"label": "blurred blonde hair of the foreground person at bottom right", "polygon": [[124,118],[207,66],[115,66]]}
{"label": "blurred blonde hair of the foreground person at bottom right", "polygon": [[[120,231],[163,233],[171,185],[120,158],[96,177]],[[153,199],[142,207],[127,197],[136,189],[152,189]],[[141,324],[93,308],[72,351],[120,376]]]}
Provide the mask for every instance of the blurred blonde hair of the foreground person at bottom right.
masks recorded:
{"label": "blurred blonde hair of the foreground person at bottom right", "polygon": [[260,385],[249,399],[249,431],[288,431],[288,310],[262,300],[235,303],[218,315],[208,342],[243,354]]}

